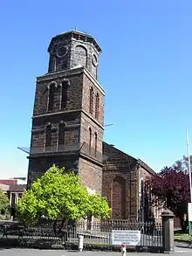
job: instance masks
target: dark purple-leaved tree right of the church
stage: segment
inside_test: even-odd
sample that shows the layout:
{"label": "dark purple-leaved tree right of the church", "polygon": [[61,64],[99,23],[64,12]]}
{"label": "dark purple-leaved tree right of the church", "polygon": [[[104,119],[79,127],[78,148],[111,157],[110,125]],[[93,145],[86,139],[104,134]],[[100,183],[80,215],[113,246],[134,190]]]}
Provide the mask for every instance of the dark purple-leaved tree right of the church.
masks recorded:
{"label": "dark purple-leaved tree right of the church", "polygon": [[165,167],[160,173],[150,178],[152,193],[165,202],[166,206],[182,218],[187,213],[190,200],[189,172],[186,158]]}

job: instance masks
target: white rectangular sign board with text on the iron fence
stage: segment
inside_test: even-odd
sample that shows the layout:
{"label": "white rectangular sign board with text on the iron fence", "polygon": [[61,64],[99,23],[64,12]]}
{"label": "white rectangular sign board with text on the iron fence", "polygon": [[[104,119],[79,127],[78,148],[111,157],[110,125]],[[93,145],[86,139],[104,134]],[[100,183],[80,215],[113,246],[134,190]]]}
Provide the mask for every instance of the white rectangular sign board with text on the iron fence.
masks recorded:
{"label": "white rectangular sign board with text on the iron fence", "polygon": [[113,230],[112,231],[112,245],[120,246],[137,246],[141,240],[140,231],[129,231],[129,230]]}

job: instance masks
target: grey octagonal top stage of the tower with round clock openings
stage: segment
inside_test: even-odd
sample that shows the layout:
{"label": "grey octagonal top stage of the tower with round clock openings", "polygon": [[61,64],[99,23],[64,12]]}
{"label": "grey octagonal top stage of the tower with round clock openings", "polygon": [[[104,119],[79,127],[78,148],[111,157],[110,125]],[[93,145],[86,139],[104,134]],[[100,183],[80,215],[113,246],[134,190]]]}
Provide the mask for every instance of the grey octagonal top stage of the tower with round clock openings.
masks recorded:
{"label": "grey octagonal top stage of the tower with round clock openings", "polygon": [[95,39],[85,33],[71,31],[51,39],[49,73],[84,66],[97,79],[101,49]]}

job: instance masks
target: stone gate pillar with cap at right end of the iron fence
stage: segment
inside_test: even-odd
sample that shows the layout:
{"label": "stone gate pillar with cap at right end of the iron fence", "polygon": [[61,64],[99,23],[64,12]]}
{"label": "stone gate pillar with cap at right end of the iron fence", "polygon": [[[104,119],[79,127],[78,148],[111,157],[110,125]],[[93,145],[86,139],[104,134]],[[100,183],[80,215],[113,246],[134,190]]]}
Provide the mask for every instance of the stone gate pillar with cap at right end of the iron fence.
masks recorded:
{"label": "stone gate pillar with cap at right end of the iron fence", "polygon": [[162,246],[164,253],[174,252],[174,213],[168,209],[161,214]]}

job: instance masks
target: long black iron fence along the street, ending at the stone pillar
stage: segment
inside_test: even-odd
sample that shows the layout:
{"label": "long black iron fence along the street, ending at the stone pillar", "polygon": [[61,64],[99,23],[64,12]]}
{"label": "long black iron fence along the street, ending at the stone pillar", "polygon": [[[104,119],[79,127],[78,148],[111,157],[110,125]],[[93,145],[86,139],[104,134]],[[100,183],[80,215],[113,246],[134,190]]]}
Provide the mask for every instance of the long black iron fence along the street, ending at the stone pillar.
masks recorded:
{"label": "long black iron fence along the street, ending at the stone pillar", "polygon": [[79,235],[84,236],[84,246],[112,250],[112,231],[139,231],[141,239],[137,248],[162,248],[161,224],[129,221],[79,221],[73,225],[53,223],[46,225],[22,225],[20,223],[0,224],[0,245],[51,248],[66,246],[77,248]]}

